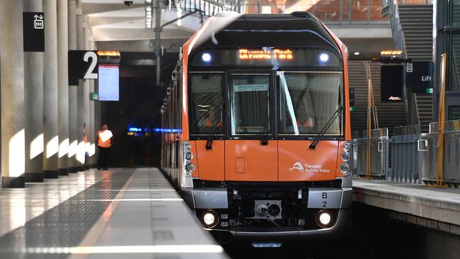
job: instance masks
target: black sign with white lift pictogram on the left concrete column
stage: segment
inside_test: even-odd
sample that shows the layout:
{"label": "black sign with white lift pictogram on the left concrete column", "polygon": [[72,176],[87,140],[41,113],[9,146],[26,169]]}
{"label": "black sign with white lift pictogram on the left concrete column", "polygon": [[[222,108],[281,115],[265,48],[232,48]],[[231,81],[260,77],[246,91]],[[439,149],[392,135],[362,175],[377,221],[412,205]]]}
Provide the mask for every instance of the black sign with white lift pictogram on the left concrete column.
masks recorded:
{"label": "black sign with white lift pictogram on the left concrete column", "polygon": [[45,13],[23,12],[23,51],[45,52]]}

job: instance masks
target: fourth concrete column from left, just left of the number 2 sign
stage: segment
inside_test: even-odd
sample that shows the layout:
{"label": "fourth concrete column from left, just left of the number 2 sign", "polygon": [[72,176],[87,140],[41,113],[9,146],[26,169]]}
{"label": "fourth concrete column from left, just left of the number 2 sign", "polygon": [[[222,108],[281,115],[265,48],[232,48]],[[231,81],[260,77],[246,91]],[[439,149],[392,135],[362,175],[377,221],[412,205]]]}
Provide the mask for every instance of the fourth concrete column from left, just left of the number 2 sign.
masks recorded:
{"label": "fourth concrete column from left, just left of the number 2 sign", "polygon": [[58,67],[58,134],[59,175],[69,175],[69,39],[67,28],[67,0],[57,1],[57,67]]}

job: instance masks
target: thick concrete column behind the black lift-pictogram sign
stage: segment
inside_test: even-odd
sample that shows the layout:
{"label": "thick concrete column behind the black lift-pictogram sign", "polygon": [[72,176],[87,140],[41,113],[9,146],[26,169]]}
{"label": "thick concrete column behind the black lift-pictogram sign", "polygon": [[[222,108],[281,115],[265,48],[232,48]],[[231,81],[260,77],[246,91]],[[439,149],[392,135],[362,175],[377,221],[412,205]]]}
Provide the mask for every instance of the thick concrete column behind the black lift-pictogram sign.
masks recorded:
{"label": "thick concrete column behind the black lift-pictogram sign", "polygon": [[[24,1],[41,12],[42,0]],[[43,52],[24,52],[25,182],[43,182]]]}

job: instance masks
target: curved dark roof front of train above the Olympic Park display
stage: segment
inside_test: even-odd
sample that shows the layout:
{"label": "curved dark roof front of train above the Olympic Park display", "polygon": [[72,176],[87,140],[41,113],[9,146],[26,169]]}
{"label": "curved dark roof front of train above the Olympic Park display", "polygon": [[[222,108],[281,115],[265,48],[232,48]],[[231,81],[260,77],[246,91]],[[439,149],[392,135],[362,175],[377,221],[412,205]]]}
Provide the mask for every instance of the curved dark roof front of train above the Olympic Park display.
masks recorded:
{"label": "curved dark roof front of train above the Olympic Park display", "polygon": [[207,48],[327,47],[340,55],[325,26],[309,12],[270,15],[222,12],[209,18],[190,40],[194,42],[192,52]]}

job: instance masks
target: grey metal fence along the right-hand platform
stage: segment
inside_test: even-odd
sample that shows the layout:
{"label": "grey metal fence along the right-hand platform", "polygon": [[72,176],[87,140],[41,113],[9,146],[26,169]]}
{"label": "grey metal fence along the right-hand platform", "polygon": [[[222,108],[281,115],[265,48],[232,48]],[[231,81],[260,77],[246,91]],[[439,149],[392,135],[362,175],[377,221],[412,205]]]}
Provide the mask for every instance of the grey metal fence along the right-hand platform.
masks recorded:
{"label": "grey metal fence along the right-hand platform", "polygon": [[[430,124],[430,133],[421,133],[420,125],[374,129],[371,134],[371,175],[405,183],[436,183],[439,123]],[[460,185],[460,120],[445,122],[443,146],[443,183]],[[353,170],[366,175],[367,132],[353,135]],[[390,159],[391,156],[391,166]]]}

